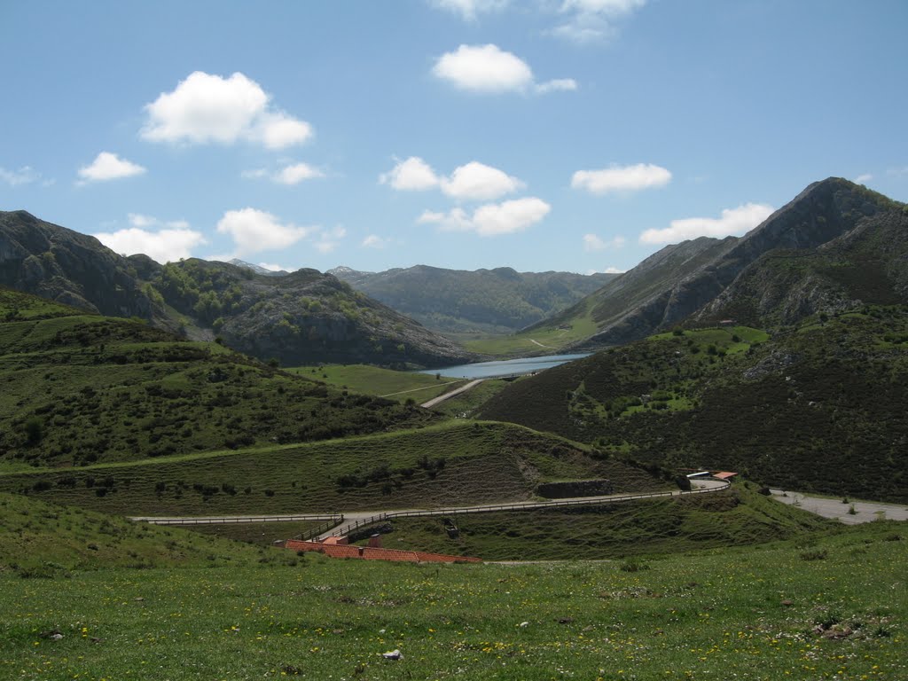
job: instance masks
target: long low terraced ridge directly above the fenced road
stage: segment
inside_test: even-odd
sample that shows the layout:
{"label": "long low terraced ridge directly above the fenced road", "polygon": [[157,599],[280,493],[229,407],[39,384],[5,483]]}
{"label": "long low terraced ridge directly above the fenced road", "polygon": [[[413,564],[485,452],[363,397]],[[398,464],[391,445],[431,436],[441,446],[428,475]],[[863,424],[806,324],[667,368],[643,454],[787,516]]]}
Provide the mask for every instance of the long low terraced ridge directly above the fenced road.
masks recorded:
{"label": "long low terraced ridge directly above the fenced road", "polygon": [[[124,515],[438,508],[530,498],[539,481],[612,479],[663,489],[645,470],[501,423],[450,422],[309,445],[0,476],[0,489]],[[248,489],[248,491],[247,491]]]}

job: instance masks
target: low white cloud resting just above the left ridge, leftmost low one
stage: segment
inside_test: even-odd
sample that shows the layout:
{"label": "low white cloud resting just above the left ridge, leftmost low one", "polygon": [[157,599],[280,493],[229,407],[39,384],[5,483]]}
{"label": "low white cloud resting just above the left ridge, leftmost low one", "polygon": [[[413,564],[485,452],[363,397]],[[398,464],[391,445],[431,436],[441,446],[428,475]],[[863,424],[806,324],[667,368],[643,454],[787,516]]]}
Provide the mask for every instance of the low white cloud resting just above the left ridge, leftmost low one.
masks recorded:
{"label": "low white cloud resting just above the left ridge, leftmost low one", "polygon": [[117,232],[98,232],[93,236],[107,248],[126,255],[144,253],[157,262],[173,262],[192,257],[192,249],[205,241],[202,232],[190,229],[184,220],[162,222],[137,213],[129,214],[131,227]]}

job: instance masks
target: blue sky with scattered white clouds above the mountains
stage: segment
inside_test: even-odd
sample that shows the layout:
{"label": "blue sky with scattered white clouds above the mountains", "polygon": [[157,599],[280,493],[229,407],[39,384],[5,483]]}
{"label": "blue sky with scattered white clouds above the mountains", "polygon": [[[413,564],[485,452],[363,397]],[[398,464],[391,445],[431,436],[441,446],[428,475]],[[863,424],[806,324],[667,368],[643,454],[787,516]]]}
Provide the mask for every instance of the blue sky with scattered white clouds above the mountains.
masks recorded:
{"label": "blue sky with scattered white clouds above the mountains", "polygon": [[903,0],[5,0],[0,210],[117,252],[625,271],[908,200]]}

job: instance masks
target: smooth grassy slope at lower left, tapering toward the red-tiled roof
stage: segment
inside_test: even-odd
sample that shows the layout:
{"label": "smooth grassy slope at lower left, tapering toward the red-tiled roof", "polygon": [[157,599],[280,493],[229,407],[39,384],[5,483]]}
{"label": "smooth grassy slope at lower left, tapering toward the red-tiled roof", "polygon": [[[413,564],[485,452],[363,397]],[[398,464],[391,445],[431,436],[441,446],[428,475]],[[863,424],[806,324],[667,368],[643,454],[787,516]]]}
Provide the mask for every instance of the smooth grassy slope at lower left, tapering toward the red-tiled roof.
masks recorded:
{"label": "smooth grassy slope at lower left, tapering toward the red-tiled roof", "polygon": [[0,494],[0,574],[53,577],[98,568],[242,564],[258,557],[246,545],[183,529]]}

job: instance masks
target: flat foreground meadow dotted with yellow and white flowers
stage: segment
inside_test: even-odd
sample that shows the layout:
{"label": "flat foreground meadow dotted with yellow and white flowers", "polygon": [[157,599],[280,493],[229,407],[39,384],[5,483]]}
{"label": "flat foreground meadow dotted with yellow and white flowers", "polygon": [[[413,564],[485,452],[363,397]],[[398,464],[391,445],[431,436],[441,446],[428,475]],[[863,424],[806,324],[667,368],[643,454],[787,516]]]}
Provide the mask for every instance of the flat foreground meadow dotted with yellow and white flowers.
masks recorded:
{"label": "flat foreground meadow dotted with yellow and white flowers", "polygon": [[[0,676],[903,679],[905,535],[872,523],[813,546],[637,571],[306,556],[295,567],[0,575]],[[42,637],[54,630],[63,638]],[[381,658],[395,648],[402,660]]]}

